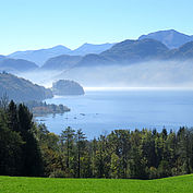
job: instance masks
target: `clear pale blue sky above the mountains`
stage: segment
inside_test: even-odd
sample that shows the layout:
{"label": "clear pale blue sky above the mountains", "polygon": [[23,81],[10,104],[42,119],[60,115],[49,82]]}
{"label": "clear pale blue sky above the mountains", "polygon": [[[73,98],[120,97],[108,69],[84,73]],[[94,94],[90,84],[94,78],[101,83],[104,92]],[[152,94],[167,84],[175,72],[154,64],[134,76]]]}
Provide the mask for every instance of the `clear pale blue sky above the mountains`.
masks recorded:
{"label": "clear pale blue sky above the mountains", "polygon": [[0,55],[118,43],[160,29],[193,35],[192,0],[0,0]]}

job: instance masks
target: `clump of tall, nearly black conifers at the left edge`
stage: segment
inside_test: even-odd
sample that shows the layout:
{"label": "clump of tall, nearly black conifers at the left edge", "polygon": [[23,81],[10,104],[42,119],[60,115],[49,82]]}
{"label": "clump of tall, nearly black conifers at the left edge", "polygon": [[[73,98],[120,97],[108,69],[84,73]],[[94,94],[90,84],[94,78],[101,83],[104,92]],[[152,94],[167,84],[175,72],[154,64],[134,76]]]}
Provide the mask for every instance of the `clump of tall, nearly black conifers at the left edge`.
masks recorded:
{"label": "clump of tall, nearly black conifers at the left edge", "polygon": [[7,98],[0,101],[0,174],[35,177],[44,174],[37,130],[26,106]]}

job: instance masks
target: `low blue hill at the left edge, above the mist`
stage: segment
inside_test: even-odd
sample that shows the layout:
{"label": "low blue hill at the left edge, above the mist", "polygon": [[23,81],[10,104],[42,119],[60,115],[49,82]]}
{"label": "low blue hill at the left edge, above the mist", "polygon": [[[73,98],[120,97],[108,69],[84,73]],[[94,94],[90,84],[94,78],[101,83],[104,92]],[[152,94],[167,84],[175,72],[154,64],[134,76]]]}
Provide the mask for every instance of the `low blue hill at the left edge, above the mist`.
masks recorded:
{"label": "low blue hill at the left edge, above the mist", "polygon": [[22,59],[10,59],[0,57],[0,71],[7,72],[24,72],[36,70],[38,67],[34,62]]}

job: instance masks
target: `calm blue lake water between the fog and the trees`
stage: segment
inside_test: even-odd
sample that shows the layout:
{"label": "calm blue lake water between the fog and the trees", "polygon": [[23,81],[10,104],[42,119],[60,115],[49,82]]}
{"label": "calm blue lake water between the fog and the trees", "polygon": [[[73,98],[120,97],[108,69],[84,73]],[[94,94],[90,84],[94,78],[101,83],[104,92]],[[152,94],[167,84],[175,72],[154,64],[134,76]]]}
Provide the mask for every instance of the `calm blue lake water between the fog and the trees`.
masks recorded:
{"label": "calm blue lake water between the fog and the trees", "polygon": [[84,96],[55,97],[71,111],[37,118],[48,130],[60,134],[67,126],[82,129],[88,138],[114,129],[177,130],[193,126],[193,91],[97,91]]}

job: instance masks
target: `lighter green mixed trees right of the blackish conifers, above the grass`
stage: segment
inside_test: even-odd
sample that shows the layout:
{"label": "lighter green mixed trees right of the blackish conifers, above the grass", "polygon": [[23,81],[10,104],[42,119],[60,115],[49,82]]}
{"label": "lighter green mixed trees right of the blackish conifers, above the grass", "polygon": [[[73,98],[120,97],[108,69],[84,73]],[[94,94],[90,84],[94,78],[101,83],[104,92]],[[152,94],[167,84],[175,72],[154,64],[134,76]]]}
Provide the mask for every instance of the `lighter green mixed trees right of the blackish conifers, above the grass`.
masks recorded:
{"label": "lighter green mixed trees right of the blackish conifers, above the grass", "polygon": [[193,132],[185,128],[116,130],[87,141],[81,130],[57,136],[41,125],[38,135],[50,177],[156,179],[193,171]]}

